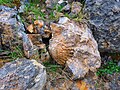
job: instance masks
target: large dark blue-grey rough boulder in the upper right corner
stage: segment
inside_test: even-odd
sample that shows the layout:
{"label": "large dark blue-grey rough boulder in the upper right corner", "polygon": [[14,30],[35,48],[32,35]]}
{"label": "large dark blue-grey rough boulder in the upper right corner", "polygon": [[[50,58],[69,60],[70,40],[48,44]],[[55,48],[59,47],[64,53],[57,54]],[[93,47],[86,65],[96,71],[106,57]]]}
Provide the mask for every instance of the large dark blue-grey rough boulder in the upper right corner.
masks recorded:
{"label": "large dark blue-grey rough boulder in the upper right corner", "polygon": [[86,0],[85,13],[100,51],[120,52],[120,0]]}

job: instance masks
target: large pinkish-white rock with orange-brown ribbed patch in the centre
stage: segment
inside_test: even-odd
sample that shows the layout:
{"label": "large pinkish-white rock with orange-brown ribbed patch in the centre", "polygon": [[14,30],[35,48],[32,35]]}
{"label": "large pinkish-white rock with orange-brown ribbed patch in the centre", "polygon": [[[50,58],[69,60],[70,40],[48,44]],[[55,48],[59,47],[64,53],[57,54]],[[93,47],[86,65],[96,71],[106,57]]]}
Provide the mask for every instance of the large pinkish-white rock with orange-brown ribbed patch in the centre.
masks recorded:
{"label": "large pinkish-white rock with orange-brown ribbed patch in the centre", "polygon": [[95,72],[101,65],[97,42],[85,24],[69,19],[63,21],[63,18],[58,24],[51,24],[49,52],[58,64],[70,68],[73,79],[82,78],[89,70]]}

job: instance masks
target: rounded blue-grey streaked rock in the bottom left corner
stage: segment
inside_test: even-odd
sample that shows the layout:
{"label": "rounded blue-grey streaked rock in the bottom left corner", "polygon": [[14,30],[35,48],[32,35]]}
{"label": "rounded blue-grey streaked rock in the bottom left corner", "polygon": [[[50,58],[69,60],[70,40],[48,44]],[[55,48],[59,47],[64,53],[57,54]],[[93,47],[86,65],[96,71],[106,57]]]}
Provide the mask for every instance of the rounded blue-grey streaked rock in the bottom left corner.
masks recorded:
{"label": "rounded blue-grey streaked rock in the bottom left corner", "polygon": [[42,90],[46,70],[36,60],[19,59],[0,68],[0,90]]}

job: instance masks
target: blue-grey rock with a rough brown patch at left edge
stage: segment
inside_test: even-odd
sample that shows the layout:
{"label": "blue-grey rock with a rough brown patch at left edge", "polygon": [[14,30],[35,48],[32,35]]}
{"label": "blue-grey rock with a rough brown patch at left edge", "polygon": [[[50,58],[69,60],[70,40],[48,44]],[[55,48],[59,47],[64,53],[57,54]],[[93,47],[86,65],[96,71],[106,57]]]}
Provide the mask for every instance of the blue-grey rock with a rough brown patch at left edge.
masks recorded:
{"label": "blue-grey rock with a rough brown patch at left edge", "polygon": [[17,11],[13,8],[0,5],[0,47],[13,50],[16,45],[21,45],[18,37],[19,31],[25,31],[21,22],[17,21]]}

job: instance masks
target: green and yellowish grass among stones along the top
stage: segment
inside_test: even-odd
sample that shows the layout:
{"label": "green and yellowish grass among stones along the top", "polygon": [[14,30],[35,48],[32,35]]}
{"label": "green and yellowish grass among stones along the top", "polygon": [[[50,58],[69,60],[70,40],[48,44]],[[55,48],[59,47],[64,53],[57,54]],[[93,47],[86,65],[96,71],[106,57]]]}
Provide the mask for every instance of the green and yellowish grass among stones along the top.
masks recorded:
{"label": "green and yellowish grass among stones along the top", "polygon": [[[54,7],[52,9],[48,9],[49,12],[46,12],[46,8],[45,8],[45,0],[28,0],[29,3],[26,4],[25,6],[25,13],[24,15],[21,15],[21,18],[24,18],[24,16],[29,16],[29,15],[34,15],[34,17],[32,18],[34,20],[38,20],[38,19],[42,19],[42,20],[47,20],[47,21],[51,21],[51,20],[55,20],[57,21],[59,19],[59,17],[61,16],[66,16],[72,20],[75,21],[81,21],[84,17],[84,14],[81,12],[79,12],[77,15],[70,15],[67,12],[63,12],[63,5],[59,5],[59,4],[55,4]],[[85,0],[81,0],[81,3],[84,3]],[[17,8],[19,8],[20,6],[20,0],[0,0],[0,5],[6,5],[9,7],[13,7],[16,6]],[[45,10],[42,11],[42,10]],[[25,19],[23,19],[23,21],[26,21]],[[27,21],[26,21],[27,22]]]}

